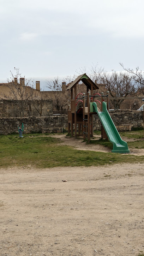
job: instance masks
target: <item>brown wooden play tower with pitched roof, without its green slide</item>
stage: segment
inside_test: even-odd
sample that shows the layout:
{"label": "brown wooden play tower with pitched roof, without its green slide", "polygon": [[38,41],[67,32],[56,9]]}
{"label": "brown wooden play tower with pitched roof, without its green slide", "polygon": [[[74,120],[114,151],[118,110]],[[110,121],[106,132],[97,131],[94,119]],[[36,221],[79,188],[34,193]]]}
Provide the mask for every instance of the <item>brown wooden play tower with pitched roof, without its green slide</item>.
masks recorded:
{"label": "brown wooden play tower with pitched roof, without its green slide", "polygon": [[[77,94],[77,85],[82,81],[82,83],[86,86],[84,93],[83,91]],[[83,84],[78,85],[78,89]],[[102,111],[102,102],[104,101],[104,97],[109,102],[109,94],[100,95],[99,93],[94,93],[94,90],[98,90],[98,86],[85,74],[78,76],[67,88],[66,90],[71,89],[71,109],[68,106],[68,133],[71,132],[71,137],[73,137],[73,124],[74,124],[74,134],[75,138],[77,136],[82,135],[84,140],[86,137],[88,138],[88,142],[90,142],[90,137],[93,137],[93,115],[96,112],[90,112],[90,102],[97,101],[101,105]],[[95,100],[95,98],[99,97],[100,100]],[[78,108],[78,102],[82,102],[83,107]],[[107,104],[108,107],[109,104]],[[78,134],[77,134],[78,129]],[[106,132],[103,127],[101,129],[102,138],[108,138]]]}

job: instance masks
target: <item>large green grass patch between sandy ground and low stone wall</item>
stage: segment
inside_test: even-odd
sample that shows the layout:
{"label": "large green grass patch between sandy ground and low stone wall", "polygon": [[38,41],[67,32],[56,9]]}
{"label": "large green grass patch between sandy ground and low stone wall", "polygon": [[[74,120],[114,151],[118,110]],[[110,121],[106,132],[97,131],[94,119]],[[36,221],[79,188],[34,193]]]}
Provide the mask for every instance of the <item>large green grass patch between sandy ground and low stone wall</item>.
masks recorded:
{"label": "large green grass patch between sandy ground and low stone wall", "polygon": [[[105,142],[109,143],[109,142]],[[0,136],[0,167],[100,166],[143,162],[143,156],[76,150],[42,134]]]}

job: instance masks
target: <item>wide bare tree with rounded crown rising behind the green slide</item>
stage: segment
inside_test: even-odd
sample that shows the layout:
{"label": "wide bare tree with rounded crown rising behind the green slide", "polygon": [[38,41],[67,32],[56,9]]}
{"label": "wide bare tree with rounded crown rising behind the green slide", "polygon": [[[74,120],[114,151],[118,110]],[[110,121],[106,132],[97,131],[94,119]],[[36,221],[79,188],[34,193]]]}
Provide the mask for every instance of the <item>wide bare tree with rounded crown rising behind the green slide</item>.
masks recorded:
{"label": "wide bare tree with rounded crown rising behind the green slide", "polygon": [[[128,73],[112,71],[112,73],[103,71],[100,74],[100,82],[109,91],[111,97],[127,97],[134,95],[136,92],[136,83],[132,81]],[[115,109],[120,108],[120,104],[124,101],[111,100]]]}

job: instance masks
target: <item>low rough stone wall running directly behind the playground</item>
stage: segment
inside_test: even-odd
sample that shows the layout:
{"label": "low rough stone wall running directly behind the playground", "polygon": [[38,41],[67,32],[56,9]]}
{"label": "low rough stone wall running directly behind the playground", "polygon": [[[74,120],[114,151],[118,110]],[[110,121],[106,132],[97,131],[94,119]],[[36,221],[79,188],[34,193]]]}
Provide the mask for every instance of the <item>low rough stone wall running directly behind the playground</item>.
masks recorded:
{"label": "low rough stone wall running directly behind the playground", "polygon": [[[132,124],[134,128],[143,126],[143,111],[120,111],[110,113],[114,124]],[[63,127],[67,130],[67,115],[49,115],[48,117],[0,118],[0,134],[18,132],[18,126],[24,124],[26,133],[42,132],[42,128]],[[101,130],[101,122],[94,115],[94,130]]]}

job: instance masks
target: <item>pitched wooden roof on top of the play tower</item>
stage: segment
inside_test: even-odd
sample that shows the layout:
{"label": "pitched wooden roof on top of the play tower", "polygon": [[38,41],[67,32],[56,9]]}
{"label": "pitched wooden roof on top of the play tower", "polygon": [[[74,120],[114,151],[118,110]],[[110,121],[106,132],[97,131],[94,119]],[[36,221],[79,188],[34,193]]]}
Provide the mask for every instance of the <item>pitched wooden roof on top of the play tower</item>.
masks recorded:
{"label": "pitched wooden roof on top of the play tower", "polygon": [[66,90],[72,89],[76,84],[82,81],[86,86],[88,86],[89,90],[91,90],[91,85],[94,89],[99,89],[98,86],[84,73],[83,75],[78,76],[67,88]]}

